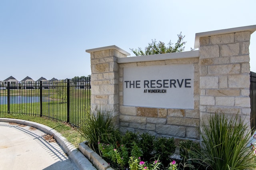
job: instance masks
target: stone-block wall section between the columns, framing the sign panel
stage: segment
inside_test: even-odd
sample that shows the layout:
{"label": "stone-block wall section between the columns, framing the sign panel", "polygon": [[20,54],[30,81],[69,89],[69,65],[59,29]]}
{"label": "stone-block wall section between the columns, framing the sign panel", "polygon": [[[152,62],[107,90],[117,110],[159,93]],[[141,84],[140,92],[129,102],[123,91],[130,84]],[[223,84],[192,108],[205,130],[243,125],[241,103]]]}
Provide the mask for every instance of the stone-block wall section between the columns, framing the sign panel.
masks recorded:
{"label": "stone-block wall section between the columns, framing the sign panel", "polygon": [[[170,53],[170,57],[175,53]],[[142,56],[144,57],[144,56]],[[154,56],[152,56],[154,57]],[[119,64],[120,131],[149,132],[155,136],[199,139],[199,56],[186,59],[165,59],[156,61]],[[194,109],[165,109],[123,106],[123,68],[151,65],[194,64]]]}

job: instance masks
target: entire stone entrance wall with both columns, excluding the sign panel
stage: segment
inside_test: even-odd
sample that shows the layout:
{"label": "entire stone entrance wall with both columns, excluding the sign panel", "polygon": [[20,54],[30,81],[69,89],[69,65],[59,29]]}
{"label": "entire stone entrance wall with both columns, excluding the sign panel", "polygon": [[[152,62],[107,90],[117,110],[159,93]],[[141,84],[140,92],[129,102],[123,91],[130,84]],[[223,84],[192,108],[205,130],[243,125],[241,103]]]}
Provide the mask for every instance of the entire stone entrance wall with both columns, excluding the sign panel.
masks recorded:
{"label": "entire stone entrance wall with both columns, excluding the sign panel", "polygon": [[[157,57],[127,57],[130,54],[115,45],[86,50],[91,54],[91,109],[113,111],[123,133],[150,132],[178,140],[200,140],[200,123],[213,113],[238,113],[250,125],[249,45],[250,34],[255,30],[256,26],[247,26],[198,33],[195,47],[199,51]],[[191,56],[182,57],[185,53]],[[194,64],[194,109],[123,105],[125,67],[185,63]]]}

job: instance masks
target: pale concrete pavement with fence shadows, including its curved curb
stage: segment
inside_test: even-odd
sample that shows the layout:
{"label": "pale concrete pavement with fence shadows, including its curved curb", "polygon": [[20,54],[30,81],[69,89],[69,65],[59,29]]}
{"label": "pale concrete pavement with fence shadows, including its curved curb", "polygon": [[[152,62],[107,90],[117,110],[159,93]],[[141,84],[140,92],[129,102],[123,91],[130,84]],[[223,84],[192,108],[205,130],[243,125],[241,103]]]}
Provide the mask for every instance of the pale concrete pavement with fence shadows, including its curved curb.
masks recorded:
{"label": "pale concrete pavement with fence shadows, including its curved curb", "polygon": [[58,136],[56,132],[50,135],[59,144],[44,140],[44,136],[49,134],[44,129],[46,126],[37,123],[29,126],[30,121],[3,119],[0,118],[1,170],[96,170],[74,146],[65,148],[65,141],[60,139],[66,138]]}

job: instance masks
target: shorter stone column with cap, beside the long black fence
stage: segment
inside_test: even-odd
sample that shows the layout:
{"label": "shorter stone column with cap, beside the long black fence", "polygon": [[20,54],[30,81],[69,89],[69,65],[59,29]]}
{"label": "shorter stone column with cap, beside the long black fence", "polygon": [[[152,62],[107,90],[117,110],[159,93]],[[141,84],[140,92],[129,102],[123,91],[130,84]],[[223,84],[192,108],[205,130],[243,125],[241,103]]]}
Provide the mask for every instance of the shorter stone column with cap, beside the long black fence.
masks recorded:
{"label": "shorter stone column with cap, beside the long black fence", "polygon": [[87,49],[91,55],[91,111],[110,111],[119,124],[119,77],[117,58],[130,53],[116,45]]}

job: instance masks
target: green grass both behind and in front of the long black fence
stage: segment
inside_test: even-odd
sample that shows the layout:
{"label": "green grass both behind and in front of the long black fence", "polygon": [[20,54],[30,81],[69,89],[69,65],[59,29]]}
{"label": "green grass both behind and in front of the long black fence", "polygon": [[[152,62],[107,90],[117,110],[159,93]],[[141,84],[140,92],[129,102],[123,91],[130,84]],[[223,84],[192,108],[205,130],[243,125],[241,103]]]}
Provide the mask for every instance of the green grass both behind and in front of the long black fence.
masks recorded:
{"label": "green grass both behind and in front of the long black fence", "polygon": [[[0,104],[0,117],[23,119],[41,123],[60,132],[74,146],[85,139],[72,126],[65,123],[67,121],[67,99],[66,91],[63,89],[44,89],[42,95],[46,101],[42,102],[42,117],[40,117],[40,103],[21,103],[8,105]],[[63,92],[64,93],[61,93]],[[10,90],[10,96],[39,96],[39,89],[17,89]],[[7,96],[7,90],[0,90],[0,96]],[[90,110],[90,89],[70,88],[70,120],[69,123],[80,126],[82,120],[86,118],[86,110]]]}

